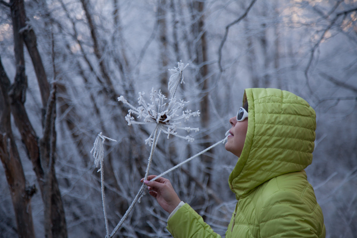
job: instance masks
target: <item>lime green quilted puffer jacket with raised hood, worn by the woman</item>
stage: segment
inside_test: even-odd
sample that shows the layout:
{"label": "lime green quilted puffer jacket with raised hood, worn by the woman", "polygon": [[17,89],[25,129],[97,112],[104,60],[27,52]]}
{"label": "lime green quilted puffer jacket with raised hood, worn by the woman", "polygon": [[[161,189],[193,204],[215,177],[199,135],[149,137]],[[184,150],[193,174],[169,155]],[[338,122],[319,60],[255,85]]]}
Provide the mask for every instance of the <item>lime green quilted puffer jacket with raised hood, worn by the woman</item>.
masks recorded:
{"label": "lime green quilted puffer jacket with raised hood, worn by the woman", "polygon": [[[229,176],[236,194],[226,237],[325,237],[325,225],[305,169],[312,162],[316,114],[301,97],[248,88],[248,131]],[[187,203],[169,219],[175,238],[220,237]]]}

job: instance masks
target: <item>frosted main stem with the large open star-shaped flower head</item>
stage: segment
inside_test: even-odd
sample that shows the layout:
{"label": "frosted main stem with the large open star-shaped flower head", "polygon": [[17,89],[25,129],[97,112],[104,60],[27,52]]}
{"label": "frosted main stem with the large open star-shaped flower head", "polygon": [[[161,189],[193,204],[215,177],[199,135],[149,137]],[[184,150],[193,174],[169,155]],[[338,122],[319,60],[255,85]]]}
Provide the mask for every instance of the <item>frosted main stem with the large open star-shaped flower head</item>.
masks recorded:
{"label": "frosted main stem with the large open star-shaped flower head", "polygon": [[[191,110],[183,111],[183,108],[186,106],[187,102],[182,99],[176,100],[175,93],[178,87],[178,83],[183,83],[182,71],[188,65],[187,64],[186,66],[184,66],[182,62],[178,62],[177,64],[178,67],[175,67],[174,69],[170,70],[174,72],[174,74],[172,74],[169,79],[168,88],[171,94],[169,103],[166,103],[165,100],[167,100],[167,98],[164,94],[161,93],[161,90],[157,92],[156,90],[154,90],[154,88],[152,88],[150,93],[151,103],[146,103],[143,97],[144,92],[139,92],[139,97],[137,98],[139,107],[131,105],[125,100],[123,96],[118,97],[118,101],[130,107],[130,109],[128,110],[128,114],[125,117],[125,120],[128,122],[129,126],[131,124],[156,125],[155,130],[150,134],[149,138],[145,140],[145,144],[149,144],[149,146],[151,146],[150,156],[145,171],[145,180],[147,180],[147,177],[149,175],[152,157],[154,155],[154,150],[156,148],[157,142],[159,141],[161,132],[167,134],[167,138],[169,138],[170,135],[173,135],[180,138],[184,138],[188,141],[193,141],[193,138],[190,136],[177,135],[177,129],[186,130],[187,132],[190,132],[191,130],[197,132],[199,130],[199,128],[182,127],[181,122],[178,122],[178,120],[181,119],[184,119],[186,121],[191,116],[200,116],[200,112],[192,112]],[[179,111],[182,111],[181,116],[179,115],[180,113],[178,113]],[[142,121],[136,121],[136,118],[134,118],[131,113],[135,114],[138,119],[142,119]],[[100,145],[98,146],[98,148],[99,153],[103,153],[102,151],[100,151]],[[107,234],[106,238],[111,238],[114,236],[114,234],[117,232],[117,230],[121,227],[122,223],[127,218],[128,214],[134,208],[135,204],[141,201],[141,198],[144,196],[144,188],[145,184],[142,184],[139,192],[134,198],[134,201],[131,203],[124,216],[120,219],[119,223],[114,228],[114,231],[109,236]]]}

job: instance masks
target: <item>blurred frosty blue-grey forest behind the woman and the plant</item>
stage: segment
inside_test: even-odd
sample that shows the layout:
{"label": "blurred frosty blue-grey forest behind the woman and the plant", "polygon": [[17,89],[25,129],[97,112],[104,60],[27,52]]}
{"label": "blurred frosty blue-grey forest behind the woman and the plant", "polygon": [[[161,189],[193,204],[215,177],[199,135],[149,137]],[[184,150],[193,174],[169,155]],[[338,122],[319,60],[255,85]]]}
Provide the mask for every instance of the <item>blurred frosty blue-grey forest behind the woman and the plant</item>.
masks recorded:
{"label": "blurred frosty blue-grey forest behind the woman and the plant", "polygon": [[[316,110],[306,171],[327,237],[357,234],[356,0],[1,0],[0,237],[104,237],[105,145],[110,231],[145,174],[152,128],[127,126],[123,95],[167,93],[168,69],[189,63],[177,95],[200,117],[195,141],[162,136],[151,174],[224,138],[244,88],[276,87]],[[220,145],[167,174],[182,201],[224,236],[235,207],[236,157]],[[170,237],[148,194],[115,237]]]}

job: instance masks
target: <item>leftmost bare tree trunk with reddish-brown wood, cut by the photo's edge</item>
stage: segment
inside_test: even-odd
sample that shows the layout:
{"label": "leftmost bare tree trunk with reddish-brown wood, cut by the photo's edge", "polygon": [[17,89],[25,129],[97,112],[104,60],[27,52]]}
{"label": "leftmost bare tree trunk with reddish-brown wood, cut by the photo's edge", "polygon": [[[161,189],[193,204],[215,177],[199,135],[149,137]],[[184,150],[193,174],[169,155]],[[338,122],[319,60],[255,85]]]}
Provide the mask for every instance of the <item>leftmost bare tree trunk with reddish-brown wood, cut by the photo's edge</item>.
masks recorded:
{"label": "leftmost bare tree trunk with reddish-brown wood, cut by the photo's edge", "polygon": [[[20,71],[24,74],[24,71]],[[35,187],[26,187],[25,174],[22,169],[19,152],[11,130],[10,98],[7,95],[10,87],[0,59],[0,158],[5,169],[12,205],[14,206],[17,234],[22,237],[35,237],[30,199],[36,192]]]}

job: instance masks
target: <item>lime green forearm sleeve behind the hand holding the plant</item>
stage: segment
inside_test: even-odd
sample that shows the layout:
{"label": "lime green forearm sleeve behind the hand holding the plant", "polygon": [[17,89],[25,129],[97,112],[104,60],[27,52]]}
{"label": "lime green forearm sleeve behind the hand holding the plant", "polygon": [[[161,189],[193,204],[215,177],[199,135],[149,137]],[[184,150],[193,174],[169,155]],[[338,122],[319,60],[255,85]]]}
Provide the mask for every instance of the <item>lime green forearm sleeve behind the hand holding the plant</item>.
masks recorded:
{"label": "lime green forearm sleeve behind the hand holding the plant", "polygon": [[167,229],[174,238],[220,238],[203,218],[185,203],[167,221]]}

